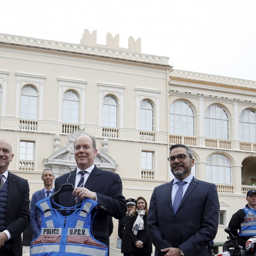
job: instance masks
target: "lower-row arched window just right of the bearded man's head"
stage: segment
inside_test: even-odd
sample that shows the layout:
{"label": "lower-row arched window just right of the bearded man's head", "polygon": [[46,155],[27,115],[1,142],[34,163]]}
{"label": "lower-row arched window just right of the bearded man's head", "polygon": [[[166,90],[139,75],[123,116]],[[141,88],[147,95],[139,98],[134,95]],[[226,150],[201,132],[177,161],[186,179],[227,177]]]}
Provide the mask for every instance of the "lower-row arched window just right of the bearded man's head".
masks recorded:
{"label": "lower-row arched window just right of the bearded man's head", "polygon": [[211,155],[206,162],[206,179],[213,183],[231,183],[231,165],[222,154]]}

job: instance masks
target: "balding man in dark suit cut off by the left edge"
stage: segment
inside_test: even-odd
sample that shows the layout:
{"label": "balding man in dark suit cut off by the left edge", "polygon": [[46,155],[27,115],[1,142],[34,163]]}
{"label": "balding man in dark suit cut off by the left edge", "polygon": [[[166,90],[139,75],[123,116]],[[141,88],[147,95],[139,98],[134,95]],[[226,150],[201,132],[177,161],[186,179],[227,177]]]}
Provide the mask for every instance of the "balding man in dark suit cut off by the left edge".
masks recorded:
{"label": "balding man in dark suit cut off by the left edge", "polygon": [[27,180],[8,171],[12,159],[11,144],[0,139],[1,256],[22,256],[21,233],[29,224],[29,185]]}

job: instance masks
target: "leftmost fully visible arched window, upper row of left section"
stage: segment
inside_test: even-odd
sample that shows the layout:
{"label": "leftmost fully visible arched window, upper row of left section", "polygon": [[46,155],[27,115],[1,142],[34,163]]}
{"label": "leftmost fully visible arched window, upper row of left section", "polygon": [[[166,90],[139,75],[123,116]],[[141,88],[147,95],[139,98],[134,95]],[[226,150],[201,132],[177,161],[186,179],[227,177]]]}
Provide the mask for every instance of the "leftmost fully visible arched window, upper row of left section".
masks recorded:
{"label": "leftmost fully visible arched window, upper row of left section", "polygon": [[38,92],[32,86],[23,87],[21,90],[20,117],[37,120]]}

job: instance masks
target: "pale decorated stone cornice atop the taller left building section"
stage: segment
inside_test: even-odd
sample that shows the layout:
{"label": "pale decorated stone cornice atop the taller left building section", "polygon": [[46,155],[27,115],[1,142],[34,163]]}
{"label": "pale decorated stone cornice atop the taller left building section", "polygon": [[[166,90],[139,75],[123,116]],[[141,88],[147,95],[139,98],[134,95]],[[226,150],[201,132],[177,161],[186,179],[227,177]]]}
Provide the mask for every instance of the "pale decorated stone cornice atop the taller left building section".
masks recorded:
{"label": "pale decorated stone cornice atop the taller left building section", "polygon": [[15,35],[0,34],[0,44],[19,45],[23,47],[32,47],[39,49],[48,49],[54,51],[77,53],[90,56],[108,57],[112,59],[135,61],[146,64],[171,67],[168,64],[169,57],[154,56],[142,53],[132,53],[103,47],[94,47],[79,44],[70,44],[59,41],[48,41],[37,38],[27,38]]}

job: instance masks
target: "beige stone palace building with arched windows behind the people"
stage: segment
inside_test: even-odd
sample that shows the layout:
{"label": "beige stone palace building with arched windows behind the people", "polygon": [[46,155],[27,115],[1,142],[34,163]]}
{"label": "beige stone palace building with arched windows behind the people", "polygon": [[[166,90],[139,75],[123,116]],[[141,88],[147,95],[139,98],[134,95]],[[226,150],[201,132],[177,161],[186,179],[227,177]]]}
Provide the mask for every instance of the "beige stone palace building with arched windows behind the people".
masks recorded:
{"label": "beige stone palace building with arched windows behind the people", "polygon": [[172,178],[170,144],[184,143],[196,178],[217,185],[215,241],[224,241],[256,183],[256,82],[175,70],[168,57],[140,53],[140,39],[124,49],[118,35],[107,34],[106,45],[96,37],[85,30],[69,44],[0,34],[0,136],[13,145],[10,170],[29,181],[31,197],[46,167],[56,177],[75,168],[73,142],[86,131],[97,139],[97,166],[120,175],[125,197],[149,203]]}

